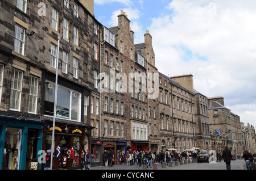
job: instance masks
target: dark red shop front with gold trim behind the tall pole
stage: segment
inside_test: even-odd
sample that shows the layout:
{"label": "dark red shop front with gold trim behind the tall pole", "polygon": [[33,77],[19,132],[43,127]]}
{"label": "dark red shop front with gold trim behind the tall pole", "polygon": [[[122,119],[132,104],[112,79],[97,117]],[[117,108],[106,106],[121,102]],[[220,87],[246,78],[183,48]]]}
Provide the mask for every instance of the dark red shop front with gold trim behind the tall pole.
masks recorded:
{"label": "dark red shop front with gold trim behind the tall pole", "polygon": [[[74,121],[57,120],[55,123],[53,170],[80,168],[82,150],[90,149],[92,127],[84,123],[72,122]],[[51,149],[52,129],[52,121],[46,120],[43,135],[44,150]]]}

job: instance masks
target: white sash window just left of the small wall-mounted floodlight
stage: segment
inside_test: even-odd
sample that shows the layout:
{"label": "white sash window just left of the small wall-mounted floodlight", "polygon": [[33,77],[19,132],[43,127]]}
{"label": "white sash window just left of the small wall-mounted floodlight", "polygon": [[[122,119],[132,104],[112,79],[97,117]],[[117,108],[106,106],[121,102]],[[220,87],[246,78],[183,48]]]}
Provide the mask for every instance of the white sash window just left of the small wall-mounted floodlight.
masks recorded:
{"label": "white sash window just left of the small wall-mounted floodlight", "polygon": [[24,55],[24,41],[25,41],[25,30],[24,28],[15,25],[14,35],[14,52]]}

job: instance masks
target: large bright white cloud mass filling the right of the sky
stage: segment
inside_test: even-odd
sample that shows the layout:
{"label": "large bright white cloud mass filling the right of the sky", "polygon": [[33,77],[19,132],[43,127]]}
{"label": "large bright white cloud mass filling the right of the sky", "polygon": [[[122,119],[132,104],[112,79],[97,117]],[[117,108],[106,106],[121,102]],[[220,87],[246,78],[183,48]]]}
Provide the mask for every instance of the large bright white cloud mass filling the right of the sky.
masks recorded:
{"label": "large bright white cloud mass filling the right of the sky", "polygon": [[[166,75],[192,73],[202,94],[239,99],[256,110],[256,1],[212,2],[173,0],[170,14],[152,19],[156,66]],[[190,61],[183,61],[184,48],[193,53]]]}

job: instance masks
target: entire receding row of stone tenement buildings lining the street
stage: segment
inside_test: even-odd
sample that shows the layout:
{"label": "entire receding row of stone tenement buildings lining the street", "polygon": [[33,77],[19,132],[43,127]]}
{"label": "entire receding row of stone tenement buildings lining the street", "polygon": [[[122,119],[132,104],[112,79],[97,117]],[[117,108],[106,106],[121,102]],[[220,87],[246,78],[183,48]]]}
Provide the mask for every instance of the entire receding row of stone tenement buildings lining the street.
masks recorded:
{"label": "entire receding row of stone tenement buildings lining the street", "polygon": [[42,166],[39,150],[53,141],[56,69],[53,169],[61,167],[57,146],[71,150],[67,169],[80,166],[82,149],[91,166],[102,165],[104,150],[255,151],[254,128],[224,98],[196,91],[191,74],[160,73],[150,33],[134,44],[125,12],[107,28],[93,3],[0,1],[0,169]]}

